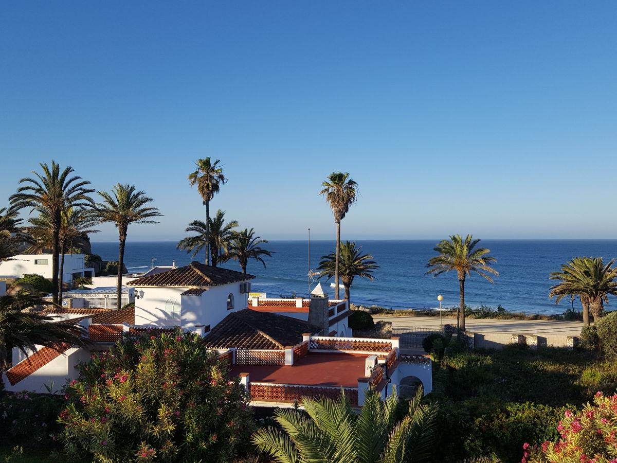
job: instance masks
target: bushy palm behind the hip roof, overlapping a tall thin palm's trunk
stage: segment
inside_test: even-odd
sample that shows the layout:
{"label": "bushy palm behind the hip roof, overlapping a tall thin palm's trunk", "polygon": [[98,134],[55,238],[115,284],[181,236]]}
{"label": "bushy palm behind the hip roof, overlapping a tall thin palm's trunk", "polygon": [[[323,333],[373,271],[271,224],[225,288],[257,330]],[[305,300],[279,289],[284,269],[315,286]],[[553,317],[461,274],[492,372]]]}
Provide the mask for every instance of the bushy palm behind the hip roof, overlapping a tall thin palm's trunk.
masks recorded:
{"label": "bushy palm behind the hip roof, overlapping a tall thin palm's trunk", "polygon": [[218,209],[214,219],[210,219],[210,227],[206,227],[202,220],[193,220],[189,223],[184,231],[196,231],[199,235],[182,238],[178,241],[177,248],[183,249],[187,253],[193,251],[193,254],[191,254],[191,259],[193,259],[199,251],[206,247],[206,233],[209,230],[210,256],[212,256],[212,266],[216,267],[218,262],[221,261],[219,257],[221,251],[223,251],[223,255],[227,254],[233,238],[232,229],[236,227],[238,227],[238,221],[231,220],[231,222],[225,223],[225,211]]}

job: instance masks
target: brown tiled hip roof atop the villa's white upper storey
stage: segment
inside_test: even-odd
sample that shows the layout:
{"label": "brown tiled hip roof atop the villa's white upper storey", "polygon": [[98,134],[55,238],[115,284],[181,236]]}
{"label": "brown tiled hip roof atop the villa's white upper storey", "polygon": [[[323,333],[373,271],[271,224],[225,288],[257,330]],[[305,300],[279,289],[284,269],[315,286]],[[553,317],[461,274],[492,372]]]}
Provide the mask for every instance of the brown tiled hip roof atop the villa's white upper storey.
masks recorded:
{"label": "brown tiled hip roof atop the villa's white upper storey", "polygon": [[235,270],[212,267],[211,265],[191,262],[185,267],[167,270],[167,272],[157,273],[148,277],[141,277],[138,280],[131,280],[128,286],[176,286],[189,288],[192,286],[219,286],[228,283],[246,282],[252,280],[255,275],[249,273],[236,272]]}

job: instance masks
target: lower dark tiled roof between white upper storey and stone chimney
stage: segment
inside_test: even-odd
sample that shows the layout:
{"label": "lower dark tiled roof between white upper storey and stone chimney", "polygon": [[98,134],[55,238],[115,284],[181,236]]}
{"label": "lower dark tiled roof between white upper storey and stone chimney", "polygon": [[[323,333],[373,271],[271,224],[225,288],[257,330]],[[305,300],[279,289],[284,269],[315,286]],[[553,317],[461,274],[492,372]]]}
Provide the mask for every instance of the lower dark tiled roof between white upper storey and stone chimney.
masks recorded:
{"label": "lower dark tiled roof between white upper storey and stone chimney", "polygon": [[204,343],[213,349],[282,349],[302,342],[302,333],[309,332],[317,333],[319,328],[292,317],[244,309],[227,315],[204,337]]}

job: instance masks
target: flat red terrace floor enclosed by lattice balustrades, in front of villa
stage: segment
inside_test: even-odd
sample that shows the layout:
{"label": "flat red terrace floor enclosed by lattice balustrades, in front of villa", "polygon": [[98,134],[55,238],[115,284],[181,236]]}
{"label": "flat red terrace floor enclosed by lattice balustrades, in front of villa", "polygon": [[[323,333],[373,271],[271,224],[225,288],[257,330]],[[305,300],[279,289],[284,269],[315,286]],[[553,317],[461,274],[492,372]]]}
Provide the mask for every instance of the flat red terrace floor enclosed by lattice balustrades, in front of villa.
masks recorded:
{"label": "flat red terrace floor enclosed by lattice balustrades, in front of villa", "polygon": [[249,373],[249,381],[357,388],[366,354],[309,352],[293,365],[231,365],[232,376]]}

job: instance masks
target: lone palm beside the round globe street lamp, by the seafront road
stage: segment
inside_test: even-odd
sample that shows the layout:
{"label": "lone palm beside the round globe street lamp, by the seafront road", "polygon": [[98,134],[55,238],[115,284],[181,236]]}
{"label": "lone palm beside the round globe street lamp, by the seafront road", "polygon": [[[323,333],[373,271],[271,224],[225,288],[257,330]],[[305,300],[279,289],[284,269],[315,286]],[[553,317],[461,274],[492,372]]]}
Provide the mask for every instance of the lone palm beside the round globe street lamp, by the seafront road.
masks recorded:
{"label": "lone palm beside the round globe street lamp, by the seafront road", "polygon": [[474,240],[472,235],[467,235],[465,240],[460,235],[450,236],[450,240],[441,240],[437,243],[434,251],[439,252],[439,256],[431,257],[426,267],[430,270],[424,275],[441,275],[450,270],[456,270],[458,277],[458,288],[460,290],[460,306],[458,312],[460,314],[460,330],[465,331],[465,278],[471,275],[471,272],[476,272],[482,277],[493,283],[489,275],[484,272],[492,273],[499,277],[497,270],[490,267],[491,262],[497,262],[495,257],[486,256],[490,249],[477,248],[474,249],[480,240]]}

